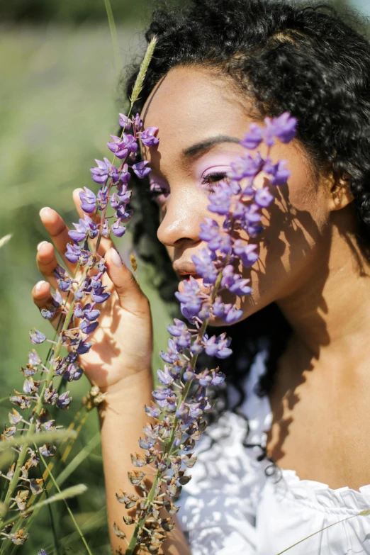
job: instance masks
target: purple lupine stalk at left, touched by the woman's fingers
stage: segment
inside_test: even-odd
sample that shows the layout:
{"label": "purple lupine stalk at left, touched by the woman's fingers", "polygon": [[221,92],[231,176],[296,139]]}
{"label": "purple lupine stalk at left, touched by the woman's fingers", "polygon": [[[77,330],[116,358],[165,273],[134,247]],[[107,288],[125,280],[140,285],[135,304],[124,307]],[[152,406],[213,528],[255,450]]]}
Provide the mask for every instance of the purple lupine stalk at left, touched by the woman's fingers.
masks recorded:
{"label": "purple lupine stalk at left, touched by the woman's fingers", "polygon": [[[93,181],[100,185],[99,192],[96,195],[85,187],[84,191],[80,193],[81,206],[85,215],[79,220],[79,223],[74,224],[75,229],[69,231],[71,242],[67,244],[65,253],[65,257],[76,266],[77,271],[71,276],[61,266],[55,269],[58,289],[52,296],[52,303],[41,309],[41,315],[47,320],[52,320],[59,315],[56,341],[48,340],[43,332],[36,329],[30,331],[30,340],[33,344],[50,342],[52,347],[45,364],[35,349],[29,353],[28,364],[21,369],[26,378],[23,384],[23,393],[15,391],[15,395],[11,397],[11,403],[20,410],[28,410],[31,407],[33,409],[26,419],[16,409],[9,413],[10,426],[5,428],[1,436],[3,442],[17,434],[32,437],[35,432],[57,430],[60,426],[56,427],[55,420],[50,420],[47,406],[55,405],[61,410],[67,410],[72,397],[69,397],[69,391],[60,394],[59,388],[53,386],[53,379],[62,377],[62,379],[72,382],[80,379],[83,374],[83,369],[78,362],[79,356],[86,354],[91,349],[89,338],[99,325],[100,310],[98,307],[108,301],[111,296],[111,293],[106,291],[106,286],[103,285],[106,265],[98,252],[101,237],[110,237],[111,235],[122,237],[124,235],[123,223],[128,222],[132,215],[132,211],[128,208],[131,196],[131,191],[128,190],[130,178],[132,174],[136,174],[142,179],[150,172],[147,161],[135,163],[138,140],[142,140],[142,143],[147,146],[158,142],[154,136],[157,131],[155,128],[150,129],[149,136],[147,135],[148,130],[142,130],[139,114],[130,118],[133,103],[140,94],[145,72],[155,49],[155,43],[156,40],[153,39],[145,54],[137,82],[133,87],[128,116],[120,114],[119,123],[122,125],[123,131],[120,137],[112,136],[113,142],[107,143],[109,150],[114,155],[113,162],[107,158],[104,158],[103,161],[96,160],[97,166],[90,170]],[[133,130],[133,133],[126,133],[130,129]],[[122,161],[119,168],[113,165],[116,158]],[[115,191],[112,193],[113,189]],[[107,218],[106,212],[109,205],[113,208],[114,215]],[[89,216],[92,213],[94,213],[93,219]],[[96,220],[98,214],[100,214],[100,221]],[[92,248],[90,247],[91,241],[95,242],[95,246]],[[60,325],[62,327],[59,330]],[[66,349],[65,356],[62,356],[62,348]],[[38,372],[42,377],[40,380],[35,379]],[[25,423],[27,423],[26,427]],[[23,425],[20,429],[17,428],[19,424]],[[40,486],[40,481],[30,478],[29,474],[33,467],[38,466],[40,459],[45,462],[45,457],[52,457],[56,452],[56,447],[50,443],[45,443],[39,448],[35,447],[35,450],[29,447],[28,442],[20,443],[20,449],[16,449],[18,453],[16,464],[9,469],[6,476],[3,475],[9,481],[9,486],[0,512],[0,535],[2,539],[9,539],[15,545],[26,542],[28,532],[25,529],[13,529],[12,532],[9,526],[4,528],[9,508],[16,508],[21,517],[26,515],[25,511],[30,510],[29,496],[39,495],[44,491]],[[47,469],[47,464],[45,464],[45,469]],[[52,478],[50,469],[48,473]],[[18,525],[15,524],[15,528],[17,527]],[[0,552],[6,543],[2,544]],[[87,547],[86,549],[89,551]]]}

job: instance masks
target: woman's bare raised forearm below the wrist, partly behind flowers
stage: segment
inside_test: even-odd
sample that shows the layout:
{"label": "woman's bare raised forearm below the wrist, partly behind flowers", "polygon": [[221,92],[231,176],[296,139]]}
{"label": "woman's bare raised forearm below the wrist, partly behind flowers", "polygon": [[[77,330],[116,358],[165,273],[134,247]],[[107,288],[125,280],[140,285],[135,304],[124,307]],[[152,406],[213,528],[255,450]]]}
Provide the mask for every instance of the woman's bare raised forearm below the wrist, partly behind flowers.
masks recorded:
{"label": "woman's bare raised forearm below the wrist, partly behind flowers", "polygon": [[[128,539],[133,534],[135,525],[125,525],[123,516],[128,515],[124,505],[118,503],[116,493],[123,490],[135,492],[135,487],[128,480],[128,471],[133,469],[130,454],[140,452],[139,437],[142,427],[150,422],[144,405],[151,404],[152,372],[150,369],[125,379],[124,387],[106,393],[106,402],[99,409],[101,418],[101,446],[103,449],[104,476],[106,481],[106,502],[108,508],[109,533],[113,551],[125,552],[125,540],[118,539],[113,532],[113,523],[125,532]],[[164,515],[168,517],[169,515]],[[181,531],[176,517],[172,517],[175,528],[162,546],[161,554],[191,555],[189,546]],[[147,551],[141,551],[146,553]]]}

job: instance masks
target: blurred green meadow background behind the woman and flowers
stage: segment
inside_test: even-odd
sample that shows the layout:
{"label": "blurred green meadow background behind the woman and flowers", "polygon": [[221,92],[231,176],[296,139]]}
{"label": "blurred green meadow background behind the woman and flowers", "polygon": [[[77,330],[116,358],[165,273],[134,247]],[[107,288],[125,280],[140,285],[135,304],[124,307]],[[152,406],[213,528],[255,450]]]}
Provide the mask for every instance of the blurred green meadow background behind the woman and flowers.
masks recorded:
{"label": "blurred green meadow background behind the woman and flowers", "polygon": [[[94,158],[108,155],[105,147],[117,129],[120,103],[118,78],[138,52],[142,29],[155,0],[111,0],[118,31],[114,54],[103,0],[12,0],[0,4],[0,238],[12,234],[0,249],[0,397],[21,389],[19,372],[30,349],[28,330],[47,323],[33,307],[30,290],[40,279],[35,265],[38,242],[47,239],[38,212],[56,208],[71,223],[76,216],[71,195],[77,186],[91,186]],[[340,1],[344,5],[344,0]],[[354,1],[370,13],[370,0]],[[120,68],[118,69],[118,60]],[[127,261],[130,237],[118,241]],[[139,265],[140,281],[150,297],[155,320],[155,361],[166,342],[167,309],[150,287],[152,276]],[[70,384],[72,420],[89,390],[86,379]],[[0,404],[7,421],[9,401]],[[89,452],[63,487],[85,483],[89,490],[69,501],[94,555],[108,554],[103,470],[96,411],[91,411],[68,461]],[[81,456],[81,458],[82,458]],[[68,462],[67,461],[67,462]],[[119,488],[119,485],[118,485]],[[42,510],[26,544],[17,549],[35,555],[84,553],[62,503]]]}

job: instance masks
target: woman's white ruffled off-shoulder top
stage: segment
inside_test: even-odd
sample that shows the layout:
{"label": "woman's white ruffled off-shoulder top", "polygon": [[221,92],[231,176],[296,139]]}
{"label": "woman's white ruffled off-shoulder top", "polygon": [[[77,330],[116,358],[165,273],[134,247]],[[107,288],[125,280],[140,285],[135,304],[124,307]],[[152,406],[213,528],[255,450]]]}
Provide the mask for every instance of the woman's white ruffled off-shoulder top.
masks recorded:
{"label": "woman's white ruffled off-shoulder top", "polygon": [[[264,358],[257,355],[245,380],[241,408],[247,443],[262,447],[272,420],[267,396],[254,392]],[[192,555],[370,554],[370,514],[359,515],[370,509],[370,485],[332,490],[284,469],[269,477],[271,463],[257,460],[262,449],[243,446],[246,431],[245,419],[227,412],[196,445],[192,479],[176,503]]]}

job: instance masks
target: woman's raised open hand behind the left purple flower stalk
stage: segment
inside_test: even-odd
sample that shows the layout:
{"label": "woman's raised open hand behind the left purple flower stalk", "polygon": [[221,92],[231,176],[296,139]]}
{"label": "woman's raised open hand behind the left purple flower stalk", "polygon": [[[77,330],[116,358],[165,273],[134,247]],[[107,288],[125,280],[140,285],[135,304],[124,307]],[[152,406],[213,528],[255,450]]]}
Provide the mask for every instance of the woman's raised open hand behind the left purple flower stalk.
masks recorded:
{"label": "woman's raised open hand behind the left purple flower stalk", "polygon": [[[74,191],[74,203],[79,217],[84,217],[80,208],[79,191]],[[33,301],[43,308],[51,301],[52,289],[57,288],[53,274],[57,267],[55,250],[63,259],[63,265],[71,275],[76,269],[65,258],[67,243],[71,242],[68,228],[60,215],[52,208],[43,208],[40,218],[54,243],[43,241],[38,245],[37,263],[46,281],[40,281],[32,291]],[[150,305],[142,293],[131,271],[125,267],[113,248],[111,240],[102,237],[99,254],[106,259],[108,271],[103,276],[103,285],[111,297],[96,305],[101,310],[99,327],[91,337],[90,351],[80,357],[80,363],[91,383],[101,391],[119,391],[128,377],[150,370],[152,357],[152,320]],[[79,279],[77,271],[76,279]],[[69,296],[69,300],[72,295]],[[64,295],[64,298],[66,296]],[[60,315],[52,324],[56,327]]]}

